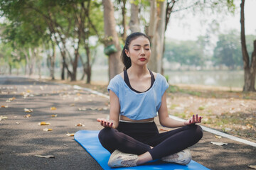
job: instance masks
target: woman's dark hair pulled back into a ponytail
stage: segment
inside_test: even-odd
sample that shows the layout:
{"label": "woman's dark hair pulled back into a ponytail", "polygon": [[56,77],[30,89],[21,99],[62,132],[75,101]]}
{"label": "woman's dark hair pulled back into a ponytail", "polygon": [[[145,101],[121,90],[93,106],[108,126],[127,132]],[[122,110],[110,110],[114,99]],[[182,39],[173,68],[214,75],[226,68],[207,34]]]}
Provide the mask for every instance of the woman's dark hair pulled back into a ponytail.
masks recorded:
{"label": "woman's dark hair pulled back into a ponytail", "polygon": [[125,50],[129,51],[129,45],[132,42],[132,40],[134,40],[134,39],[136,39],[138,37],[141,37],[141,36],[147,38],[149,40],[149,42],[150,42],[150,39],[149,39],[148,36],[146,36],[144,33],[139,33],[139,32],[130,34],[127,37],[127,39],[125,40],[124,48],[123,48],[122,54],[121,54],[122,62],[124,64],[124,70],[127,70],[127,69],[129,69],[129,67],[132,66],[131,59],[129,57],[127,57],[127,55],[125,53]]}

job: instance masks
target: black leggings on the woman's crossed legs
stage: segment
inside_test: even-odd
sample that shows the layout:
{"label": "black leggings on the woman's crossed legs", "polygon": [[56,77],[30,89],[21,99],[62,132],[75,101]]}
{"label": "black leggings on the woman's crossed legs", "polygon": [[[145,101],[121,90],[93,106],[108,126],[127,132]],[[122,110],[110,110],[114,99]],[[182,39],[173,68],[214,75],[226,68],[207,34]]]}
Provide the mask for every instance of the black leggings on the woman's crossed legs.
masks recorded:
{"label": "black leggings on the woman's crossed legs", "polygon": [[[115,149],[130,154],[149,152],[153,159],[175,154],[195,145],[203,137],[199,125],[186,125],[169,132],[159,133],[156,124],[119,122],[117,129],[104,128],[99,140],[110,153]],[[154,147],[151,149],[151,147]]]}

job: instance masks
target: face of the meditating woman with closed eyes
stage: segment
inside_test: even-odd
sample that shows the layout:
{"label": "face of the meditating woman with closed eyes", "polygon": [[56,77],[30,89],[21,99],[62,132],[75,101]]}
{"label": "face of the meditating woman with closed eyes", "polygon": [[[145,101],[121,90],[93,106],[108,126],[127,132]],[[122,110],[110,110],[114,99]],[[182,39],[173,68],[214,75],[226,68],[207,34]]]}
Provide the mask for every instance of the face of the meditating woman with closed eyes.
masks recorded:
{"label": "face of the meditating woman with closed eyes", "polygon": [[129,50],[125,50],[125,53],[130,57],[132,64],[144,65],[149,62],[151,56],[150,42],[140,36],[130,42]]}

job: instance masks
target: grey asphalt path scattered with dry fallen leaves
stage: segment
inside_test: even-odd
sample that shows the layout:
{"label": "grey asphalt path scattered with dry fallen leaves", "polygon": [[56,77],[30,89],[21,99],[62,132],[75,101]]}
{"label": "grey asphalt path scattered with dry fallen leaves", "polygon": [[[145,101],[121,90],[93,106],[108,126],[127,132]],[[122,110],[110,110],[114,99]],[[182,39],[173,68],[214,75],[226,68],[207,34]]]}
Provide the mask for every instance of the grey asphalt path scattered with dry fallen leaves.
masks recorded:
{"label": "grey asphalt path scattered with dry fallen leaves", "polygon": [[[0,76],[0,105],[0,169],[101,169],[67,134],[102,129],[96,118],[107,118],[108,98],[65,84]],[[25,112],[25,108],[32,112]],[[38,125],[41,122],[50,125]],[[52,131],[44,131],[46,128]],[[209,169],[250,169],[248,165],[256,165],[256,147],[216,138],[209,132],[190,149],[193,160]]]}

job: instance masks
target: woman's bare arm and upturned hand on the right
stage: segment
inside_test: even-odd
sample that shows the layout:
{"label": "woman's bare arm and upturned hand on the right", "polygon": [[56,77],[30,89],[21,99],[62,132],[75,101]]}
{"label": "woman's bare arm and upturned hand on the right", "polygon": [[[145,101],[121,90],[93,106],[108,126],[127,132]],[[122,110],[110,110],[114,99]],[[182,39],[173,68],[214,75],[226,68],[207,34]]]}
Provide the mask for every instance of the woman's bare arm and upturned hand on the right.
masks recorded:
{"label": "woman's bare arm and upturned hand on the right", "polygon": [[166,92],[164,92],[164,95],[161,98],[161,106],[159,108],[159,121],[160,124],[164,127],[168,128],[178,128],[184,125],[191,125],[194,123],[201,123],[201,116],[193,115],[192,118],[186,121],[178,121],[174,120],[172,118],[169,118],[168,109],[167,109],[167,103],[166,103]]}

